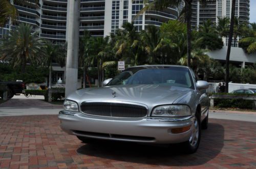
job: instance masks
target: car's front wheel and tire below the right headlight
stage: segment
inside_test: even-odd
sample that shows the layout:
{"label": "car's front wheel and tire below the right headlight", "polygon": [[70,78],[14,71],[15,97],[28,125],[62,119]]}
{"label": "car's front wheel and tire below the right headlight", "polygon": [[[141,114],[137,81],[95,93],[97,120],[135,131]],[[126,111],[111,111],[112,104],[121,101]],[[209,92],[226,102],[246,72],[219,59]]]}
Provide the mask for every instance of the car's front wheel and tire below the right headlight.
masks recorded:
{"label": "car's front wheel and tire below the right headlight", "polygon": [[191,126],[193,128],[193,131],[191,133],[191,136],[187,142],[184,144],[184,151],[187,154],[195,153],[200,145],[200,139],[201,139],[201,125],[200,125],[200,114],[197,112],[194,124]]}

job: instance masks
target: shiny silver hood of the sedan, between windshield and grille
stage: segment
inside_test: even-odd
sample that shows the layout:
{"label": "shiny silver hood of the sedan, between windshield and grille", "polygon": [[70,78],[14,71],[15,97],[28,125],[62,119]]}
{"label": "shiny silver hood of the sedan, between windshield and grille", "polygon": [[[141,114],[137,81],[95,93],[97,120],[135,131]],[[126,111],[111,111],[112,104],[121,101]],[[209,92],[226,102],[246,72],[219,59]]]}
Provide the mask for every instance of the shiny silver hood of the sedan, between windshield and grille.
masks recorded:
{"label": "shiny silver hood of the sedan, between windshield and grille", "polygon": [[[120,85],[78,90],[67,97],[80,104],[83,101],[108,100],[142,103],[145,105],[172,104],[193,91],[188,88],[163,85]],[[115,95],[115,97],[114,97]]]}

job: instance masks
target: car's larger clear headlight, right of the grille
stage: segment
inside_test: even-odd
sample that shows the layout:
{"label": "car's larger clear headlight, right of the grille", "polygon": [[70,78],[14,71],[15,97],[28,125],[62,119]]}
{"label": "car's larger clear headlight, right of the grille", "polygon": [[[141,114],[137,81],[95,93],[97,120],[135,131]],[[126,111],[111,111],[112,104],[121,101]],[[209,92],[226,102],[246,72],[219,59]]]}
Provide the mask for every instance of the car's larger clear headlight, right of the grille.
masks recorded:
{"label": "car's larger clear headlight, right of the grille", "polygon": [[185,117],[191,116],[191,110],[187,105],[162,105],[154,108],[152,116]]}

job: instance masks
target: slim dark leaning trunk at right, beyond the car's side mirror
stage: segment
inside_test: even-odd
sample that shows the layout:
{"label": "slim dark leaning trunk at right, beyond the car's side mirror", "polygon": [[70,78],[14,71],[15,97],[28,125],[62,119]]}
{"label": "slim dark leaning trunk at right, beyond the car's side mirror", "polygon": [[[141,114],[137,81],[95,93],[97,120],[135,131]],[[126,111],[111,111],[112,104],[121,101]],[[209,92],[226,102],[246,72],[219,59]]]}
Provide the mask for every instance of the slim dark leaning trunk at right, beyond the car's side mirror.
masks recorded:
{"label": "slim dark leaning trunk at right, beyond the car's side mirror", "polygon": [[226,75],[225,75],[225,92],[228,93],[228,80],[229,80],[229,58],[231,51],[231,43],[234,31],[234,8],[236,5],[236,0],[232,0],[232,9],[231,9],[231,20],[230,20],[230,29],[228,36],[228,46],[227,46],[227,56],[226,56]]}

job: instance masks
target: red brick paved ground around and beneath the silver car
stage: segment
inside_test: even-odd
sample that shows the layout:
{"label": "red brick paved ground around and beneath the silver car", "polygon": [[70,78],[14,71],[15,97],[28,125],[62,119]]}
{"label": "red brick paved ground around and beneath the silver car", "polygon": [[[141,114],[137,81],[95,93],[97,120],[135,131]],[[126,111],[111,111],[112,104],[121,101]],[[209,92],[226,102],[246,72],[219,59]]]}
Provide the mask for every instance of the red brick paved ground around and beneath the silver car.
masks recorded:
{"label": "red brick paved ground around and beneath the silver car", "polygon": [[210,119],[197,153],[175,147],[87,145],[57,116],[0,118],[0,168],[256,168],[256,123]]}

